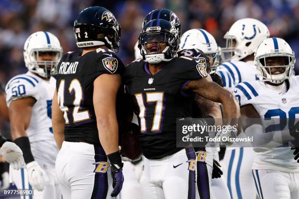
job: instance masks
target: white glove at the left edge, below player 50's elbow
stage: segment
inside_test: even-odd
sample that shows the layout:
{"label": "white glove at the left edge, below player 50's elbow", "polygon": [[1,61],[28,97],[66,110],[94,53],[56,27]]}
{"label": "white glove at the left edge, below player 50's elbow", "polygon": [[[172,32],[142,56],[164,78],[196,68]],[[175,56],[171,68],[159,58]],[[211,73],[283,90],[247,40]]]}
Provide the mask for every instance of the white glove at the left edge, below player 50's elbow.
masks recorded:
{"label": "white glove at the left edge, below player 50's elbow", "polygon": [[23,152],[14,142],[4,142],[0,149],[0,153],[4,157],[5,161],[10,163],[14,169],[19,170],[25,164]]}

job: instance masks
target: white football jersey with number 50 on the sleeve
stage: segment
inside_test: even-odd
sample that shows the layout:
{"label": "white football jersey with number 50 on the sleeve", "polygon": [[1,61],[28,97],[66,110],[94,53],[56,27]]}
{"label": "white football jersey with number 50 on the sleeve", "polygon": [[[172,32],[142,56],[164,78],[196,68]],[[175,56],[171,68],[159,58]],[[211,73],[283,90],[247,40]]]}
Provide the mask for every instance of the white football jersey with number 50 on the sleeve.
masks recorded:
{"label": "white football jersey with number 50 on the sleeve", "polygon": [[36,103],[31,110],[31,119],[26,130],[31,151],[35,158],[55,163],[58,148],[52,129],[52,98],[56,80],[43,80],[34,73],[27,72],[13,77],[6,84],[6,104],[26,97],[33,97]]}

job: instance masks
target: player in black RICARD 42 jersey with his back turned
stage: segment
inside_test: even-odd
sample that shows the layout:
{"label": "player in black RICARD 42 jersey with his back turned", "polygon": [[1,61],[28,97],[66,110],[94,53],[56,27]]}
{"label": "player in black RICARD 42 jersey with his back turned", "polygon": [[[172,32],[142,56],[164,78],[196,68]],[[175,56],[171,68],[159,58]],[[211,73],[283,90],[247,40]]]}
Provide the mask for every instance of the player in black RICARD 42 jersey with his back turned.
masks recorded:
{"label": "player in black RICARD 42 jersey with his back turned", "polygon": [[79,13],[74,34],[83,51],[63,56],[53,97],[53,130],[61,148],[56,174],[66,199],[108,199],[124,181],[116,95],[125,66],[112,51],[120,45],[120,25],[106,8],[93,6]]}

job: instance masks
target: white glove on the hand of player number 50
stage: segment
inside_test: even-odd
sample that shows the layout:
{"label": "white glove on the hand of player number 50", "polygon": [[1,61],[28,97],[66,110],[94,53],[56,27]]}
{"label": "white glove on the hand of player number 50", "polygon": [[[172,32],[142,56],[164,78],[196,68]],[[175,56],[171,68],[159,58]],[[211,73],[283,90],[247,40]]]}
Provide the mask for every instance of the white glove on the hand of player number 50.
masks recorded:
{"label": "white glove on the hand of player number 50", "polygon": [[26,164],[29,183],[32,188],[38,191],[43,191],[44,185],[49,181],[46,173],[37,163],[37,161],[32,161]]}

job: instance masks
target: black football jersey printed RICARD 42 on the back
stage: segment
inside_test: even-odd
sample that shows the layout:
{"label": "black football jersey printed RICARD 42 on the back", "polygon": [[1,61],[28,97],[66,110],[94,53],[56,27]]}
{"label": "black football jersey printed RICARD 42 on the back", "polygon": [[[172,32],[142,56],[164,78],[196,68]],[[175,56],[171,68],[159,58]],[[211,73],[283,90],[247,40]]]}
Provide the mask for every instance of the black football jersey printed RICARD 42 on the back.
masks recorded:
{"label": "black football jersey printed RICARD 42 on the back", "polygon": [[102,74],[120,74],[123,62],[112,51],[98,48],[81,56],[71,52],[58,64],[56,90],[64,112],[64,140],[100,145],[93,107],[93,81]]}

